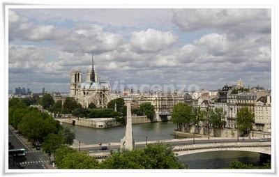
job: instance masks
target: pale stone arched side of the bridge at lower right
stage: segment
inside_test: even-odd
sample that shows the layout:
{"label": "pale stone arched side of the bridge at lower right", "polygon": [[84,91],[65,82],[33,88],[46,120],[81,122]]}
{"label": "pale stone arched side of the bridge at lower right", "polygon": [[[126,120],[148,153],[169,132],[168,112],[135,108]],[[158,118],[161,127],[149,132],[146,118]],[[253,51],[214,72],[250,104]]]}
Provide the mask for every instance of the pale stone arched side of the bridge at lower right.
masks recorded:
{"label": "pale stone arched side of the bridge at lower right", "polygon": [[191,144],[186,146],[174,146],[173,151],[178,156],[210,151],[249,151],[271,155],[271,142]]}

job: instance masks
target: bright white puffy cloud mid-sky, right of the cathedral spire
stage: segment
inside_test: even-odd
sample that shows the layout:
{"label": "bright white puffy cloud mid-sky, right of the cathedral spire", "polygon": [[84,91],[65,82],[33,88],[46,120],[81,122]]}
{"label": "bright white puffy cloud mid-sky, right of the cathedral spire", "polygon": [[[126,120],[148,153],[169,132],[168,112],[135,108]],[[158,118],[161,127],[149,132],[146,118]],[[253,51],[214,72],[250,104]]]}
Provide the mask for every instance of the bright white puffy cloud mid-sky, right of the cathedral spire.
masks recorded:
{"label": "bright white puffy cloud mid-sky, right of the cathedral spire", "polygon": [[132,32],[130,44],[135,52],[159,52],[176,43],[177,36],[171,31],[163,32],[155,29]]}

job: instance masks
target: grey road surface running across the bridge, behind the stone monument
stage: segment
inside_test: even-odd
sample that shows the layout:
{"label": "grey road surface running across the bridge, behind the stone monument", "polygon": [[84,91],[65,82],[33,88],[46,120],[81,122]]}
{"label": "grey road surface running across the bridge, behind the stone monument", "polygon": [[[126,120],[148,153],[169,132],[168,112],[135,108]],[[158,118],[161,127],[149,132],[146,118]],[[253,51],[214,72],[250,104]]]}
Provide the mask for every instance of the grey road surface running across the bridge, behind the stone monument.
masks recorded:
{"label": "grey road surface running across the bridge, behind the stone monument", "polygon": [[[270,138],[266,138],[267,141],[271,141]],[[258,142],[259,139],[241,139],[239,138],[239,142]],[[232,143],[232,142],[236,142],[237,143],[237,139],[206,139],[206,140],[195,140],[195,144],[212,144],[212,143]],[[183,146],[183,145],[190,145],[193,144],[193,140],[192,141],[173,141],[173,142],[167,142],[167,144],[172,145],[172,146]],[[135,148],[139,148],[139,147],[143,147],[146,146],[145,144],[136,144]],[[110,150],[116,150],[119,148],[119,146],[107,146],[108,147],[108,151]],[[78,150],[78,148],[77,148]],[[100,146],[99,147],[81,147],[80,148],[81,151],[89,151],[89,152],[100,152]]]}

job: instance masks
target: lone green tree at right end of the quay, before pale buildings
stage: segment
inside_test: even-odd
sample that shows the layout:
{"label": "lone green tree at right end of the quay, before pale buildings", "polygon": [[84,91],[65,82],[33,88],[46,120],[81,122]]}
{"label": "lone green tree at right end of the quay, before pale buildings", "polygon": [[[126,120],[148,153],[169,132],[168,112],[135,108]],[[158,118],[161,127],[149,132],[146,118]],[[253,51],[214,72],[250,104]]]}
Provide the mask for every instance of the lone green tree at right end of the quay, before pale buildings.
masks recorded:
{"label": "lone green tree at right end of the quay, before pale buildings", "polygon": [[246,135],[252,130],[255,115],[248,107],[242,107],[236,114],[236,128],[243,135]]}

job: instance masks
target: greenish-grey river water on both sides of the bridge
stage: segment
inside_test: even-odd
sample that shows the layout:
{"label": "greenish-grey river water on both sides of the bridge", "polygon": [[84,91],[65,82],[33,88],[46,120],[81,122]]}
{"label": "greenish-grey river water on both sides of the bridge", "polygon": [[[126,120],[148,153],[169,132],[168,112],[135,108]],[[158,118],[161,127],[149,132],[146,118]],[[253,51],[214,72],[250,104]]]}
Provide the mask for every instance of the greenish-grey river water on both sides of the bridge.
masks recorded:
{"label": "greenish-grey river water on both sides of the bridge", "polygon": [[[108,142],[120,142],[125,134],[125,126],[109,129],[93,129],[80,126],[73,126],[67,123],[63,127],[71,127],[75,131],[76,139],[83,144],[98,144]],[[174,139],[172,132],[176,125],[172,122],[143,123],[133,125],[135,141],[148,141]],[[177,137],[176,137],[177,138]],[[195,153],[192,155],[182,155],[179,160],[188,164],[189,169],[226,169],[234,160],[250,163],[254,165],[262,164],[259,153],[243,151],[215,151],[207,153]]]}

